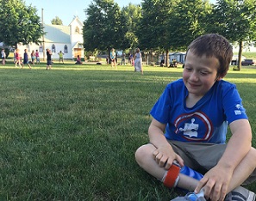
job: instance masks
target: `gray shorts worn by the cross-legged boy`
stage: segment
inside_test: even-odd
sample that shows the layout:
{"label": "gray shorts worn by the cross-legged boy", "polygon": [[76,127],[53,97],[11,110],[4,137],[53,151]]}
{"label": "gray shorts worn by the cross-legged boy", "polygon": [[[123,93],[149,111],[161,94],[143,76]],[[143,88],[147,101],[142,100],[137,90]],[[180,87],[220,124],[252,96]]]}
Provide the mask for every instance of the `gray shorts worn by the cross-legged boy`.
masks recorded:
{"label": "gray shorts worn by the cross-legged boy", "polygon": [[[205,174],[209,169],[215,167],[221,159],[227,144],[215,143],[184,143],[178,141],[168,141],[172,149],[182,157],[184,165],[201,174]],[[256,180],[256,169],[253,174],[244,182],[250,184]]]}

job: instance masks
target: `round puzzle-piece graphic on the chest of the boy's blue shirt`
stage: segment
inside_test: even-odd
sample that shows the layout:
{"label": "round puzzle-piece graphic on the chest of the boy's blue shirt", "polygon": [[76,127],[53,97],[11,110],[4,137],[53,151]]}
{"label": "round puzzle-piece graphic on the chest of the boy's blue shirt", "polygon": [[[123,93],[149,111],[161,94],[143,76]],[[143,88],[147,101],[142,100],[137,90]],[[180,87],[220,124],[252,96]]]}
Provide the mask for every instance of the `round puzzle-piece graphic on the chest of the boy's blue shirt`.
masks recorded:
{"label": "round puzzle-piece graphic on the chest of the boy's blue shirt", "polygon": [[212,136],[210,119],[200,112],[186,113],[175,120],[175,133],[189,141],[207,141]]}

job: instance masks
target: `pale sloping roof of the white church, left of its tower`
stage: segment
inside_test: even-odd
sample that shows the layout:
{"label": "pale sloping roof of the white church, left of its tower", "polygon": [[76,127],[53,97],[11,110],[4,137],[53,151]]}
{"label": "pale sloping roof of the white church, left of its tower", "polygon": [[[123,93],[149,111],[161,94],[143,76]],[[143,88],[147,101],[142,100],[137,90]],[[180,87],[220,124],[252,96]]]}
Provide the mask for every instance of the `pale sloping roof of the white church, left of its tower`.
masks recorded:
{"label": "pale sloping roof of the white church, left of its tower", "polygon": [[70,27],[63,25],[44,24],[45,42],[70,44]]}

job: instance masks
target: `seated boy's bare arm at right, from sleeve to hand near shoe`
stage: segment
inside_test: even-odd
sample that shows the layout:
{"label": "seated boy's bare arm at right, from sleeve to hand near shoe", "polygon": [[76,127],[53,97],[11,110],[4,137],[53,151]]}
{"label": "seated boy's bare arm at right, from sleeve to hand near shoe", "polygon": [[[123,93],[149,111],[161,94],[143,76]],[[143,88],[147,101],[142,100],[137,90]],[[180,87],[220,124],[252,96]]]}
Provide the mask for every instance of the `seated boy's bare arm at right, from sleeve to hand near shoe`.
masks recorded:
{"label": "seated boy's bare arm at right, from sleeve to hand near shoe", "polygon": [[[222,158],[204,175],[195,190],[199,192],[203,187],[205,194],[213,196],[211,199],[214,200],[223,200],[227,192],[232,190],[229,189],[229,184],[230,180],[234,179],[234,169],[239,166],[252,146],[252,131],[247,119],[235,120],[229,126],[232,136]],[[234,182],[241,183],[243,180]]]}

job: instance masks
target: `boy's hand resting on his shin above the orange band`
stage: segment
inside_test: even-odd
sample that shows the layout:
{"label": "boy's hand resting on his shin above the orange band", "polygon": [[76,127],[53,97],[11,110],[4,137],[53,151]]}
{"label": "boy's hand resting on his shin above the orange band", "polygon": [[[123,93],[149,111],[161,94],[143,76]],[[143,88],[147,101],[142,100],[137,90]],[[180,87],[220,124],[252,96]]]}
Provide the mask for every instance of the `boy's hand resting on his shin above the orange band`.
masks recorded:
{"label": "boy's hand resting on his shin above the orange band", "polygon": [[159,164],[159,167],[169,169],[173,161],[178,161],[181,166],[184,166],[183,159],[176,154],[171,147],[159,147],[153,151],[153,158]]}

